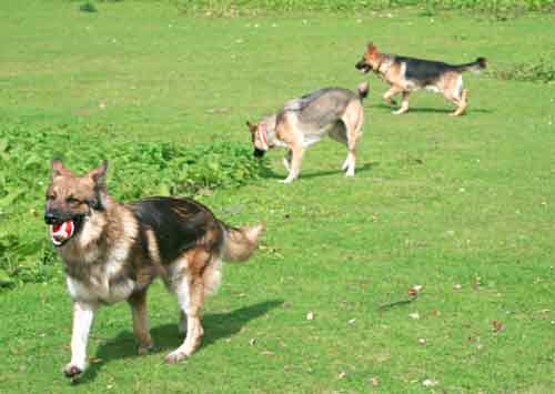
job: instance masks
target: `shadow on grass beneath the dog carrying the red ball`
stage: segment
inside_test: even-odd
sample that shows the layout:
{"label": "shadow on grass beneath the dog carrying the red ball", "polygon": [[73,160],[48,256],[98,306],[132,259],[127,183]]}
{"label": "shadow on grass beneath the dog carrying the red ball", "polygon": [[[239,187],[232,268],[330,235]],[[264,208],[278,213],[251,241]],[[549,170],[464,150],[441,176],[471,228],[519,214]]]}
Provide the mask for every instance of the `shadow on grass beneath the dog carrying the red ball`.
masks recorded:
{"label": "shadow on grass beneath the dog carrying the red ball", "polygon": [[[283,304],[282,300],[265,301],[250,306],[240,307],[229,313],[208,313],[202,316],[204,336],[196,352],[220,340],[231,337],[241,331],[251,320],[258,319],[271,310]],[[175,322],[162,324],[150,330],[155,347],[150,354],[163,356],[183,343],[183,337],[178,331],[178,313]],[[194,356],[194,355],[193,355]],[[137,353],[137,343],[131,331],[122,331],[117,337],[102,343],[93,356],[91,365],[75,383],[82,384],[94,381],[97,374],[112,360],[127,357],[142,357]]]}

